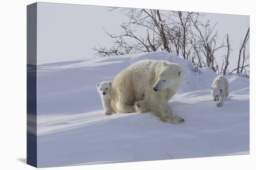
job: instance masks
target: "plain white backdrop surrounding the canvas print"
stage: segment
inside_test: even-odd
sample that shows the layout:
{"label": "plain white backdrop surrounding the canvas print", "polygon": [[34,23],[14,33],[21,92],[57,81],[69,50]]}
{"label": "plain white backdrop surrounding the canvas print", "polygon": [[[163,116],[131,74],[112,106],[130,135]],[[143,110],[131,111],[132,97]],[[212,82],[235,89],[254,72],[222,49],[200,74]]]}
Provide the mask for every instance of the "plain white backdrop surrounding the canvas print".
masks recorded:
{"label": "plain white backdrop surrounding the canvas print", "polygon": [[[26,6],[34,0],[2,0],[0,2],[0,169],[34,169],[26,162]],[[251,0],[45,0],[101,6],[121,6],[181,10],[207,13],[250,15],[250,87],[254,87],[255,58],[253,40],[255,5]],[[239,23],[237,23],[239,24]],[[128,170],[149,169],[253,169],[255,153],[254,88],[250,90],[250,155],[191,158],[120,164],[101,164],[51,168],[54,170]],[[110,153],[111,154],[111,153]],[[49,169],[49,168],[47,168]]]}

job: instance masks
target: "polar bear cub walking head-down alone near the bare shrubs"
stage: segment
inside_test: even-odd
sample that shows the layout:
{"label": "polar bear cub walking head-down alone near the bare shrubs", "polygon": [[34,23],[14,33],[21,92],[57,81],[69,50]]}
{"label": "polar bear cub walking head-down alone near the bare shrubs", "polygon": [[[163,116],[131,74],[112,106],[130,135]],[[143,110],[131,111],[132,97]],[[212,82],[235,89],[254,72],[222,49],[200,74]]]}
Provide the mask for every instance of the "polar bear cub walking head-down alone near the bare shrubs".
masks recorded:
{"label": "polar bear cub walking head-down alone near the bare shrubs", "polygon": [[217,101],[217,106],[222,107],[225,98],[229,95],[229,82],[225,76],[216,77],[211,86],[211,94],[214,101]]}

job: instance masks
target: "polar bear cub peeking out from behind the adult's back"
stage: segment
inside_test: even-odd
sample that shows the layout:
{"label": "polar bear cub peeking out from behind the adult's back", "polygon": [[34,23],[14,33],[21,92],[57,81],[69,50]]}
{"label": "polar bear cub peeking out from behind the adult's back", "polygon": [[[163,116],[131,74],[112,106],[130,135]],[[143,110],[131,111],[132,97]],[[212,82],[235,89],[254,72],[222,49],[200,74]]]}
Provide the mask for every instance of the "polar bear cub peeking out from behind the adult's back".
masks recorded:
{"label": "polar bear cub peeking out from behind the adult's back", "polygon": [[101,95],[102,106],[106,115],[111,115],[111,82],[101,82],[96,84],[99,94]]}

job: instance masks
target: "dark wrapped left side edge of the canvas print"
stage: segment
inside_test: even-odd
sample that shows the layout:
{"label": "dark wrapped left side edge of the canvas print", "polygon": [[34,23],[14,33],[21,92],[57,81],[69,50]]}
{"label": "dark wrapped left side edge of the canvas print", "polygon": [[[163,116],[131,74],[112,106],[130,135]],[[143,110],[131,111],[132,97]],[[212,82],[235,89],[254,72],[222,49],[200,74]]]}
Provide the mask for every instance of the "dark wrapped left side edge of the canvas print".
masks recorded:
{"label": "dark wrapped left side edge of the canvas print", "polygon": [[27,164],[37,167],[36,31],[37,3],[27,6]]}

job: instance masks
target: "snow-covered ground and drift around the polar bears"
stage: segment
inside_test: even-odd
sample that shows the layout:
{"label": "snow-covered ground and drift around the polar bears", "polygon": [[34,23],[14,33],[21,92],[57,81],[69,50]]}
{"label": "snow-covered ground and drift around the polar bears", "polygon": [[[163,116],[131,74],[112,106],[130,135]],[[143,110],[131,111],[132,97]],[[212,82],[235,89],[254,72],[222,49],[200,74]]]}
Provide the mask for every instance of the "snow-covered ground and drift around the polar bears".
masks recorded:
{"label": "snow-covered ground and drift around the polar bears", "polygon": [[[163,123],[151,113],[104,115],[96,83],[143,59],[182,66],[184,81],[169,105],[184,123]],[[40,64],[38,167],[248,154],[249,80],[228,76],[230,94],[216,107],[209,88],[217,75],[200,71],[167,52]]]}

